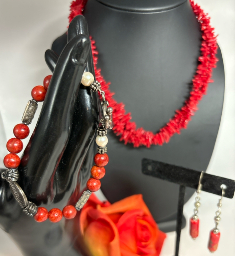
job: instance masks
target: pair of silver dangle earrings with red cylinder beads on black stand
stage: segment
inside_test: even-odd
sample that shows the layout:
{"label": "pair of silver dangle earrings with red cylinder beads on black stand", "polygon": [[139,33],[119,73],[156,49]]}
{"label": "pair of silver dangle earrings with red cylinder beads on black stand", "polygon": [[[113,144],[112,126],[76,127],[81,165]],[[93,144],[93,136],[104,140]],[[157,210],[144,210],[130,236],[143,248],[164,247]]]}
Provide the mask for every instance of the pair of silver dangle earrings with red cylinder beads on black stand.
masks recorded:
{"label": "pair of silver dangle earrings with red cylinder beads on black stand", "polygon": [[[196,190],[197,196],[195,198],[196,202],[194,203],[194,215],[193,217],[191,217],[190,219],[190,236],[192,236],[192,238],[195,240],[198,235],[199,235],[199,218],[197,216],[198,214],[198,208],[200,207],[201,203],[200,203],[200,193],[201,193],[201,189],[202,189],[202,184],[201,184],[201,180],[203,178],[203,174],[204,172],[201,172],[200,175],[200,179],[199,179],[199,183],[198,183],[198,188]],[[219,199],[219,203],[217,204],[218,209],[216,211],[216,216],[214,218],[215,220],[215,228],[213,228],[210,231],[210,238],[209,238],[209,243],[208,243],[208,249],[210,252],[215,252],[217,250],[218,244],[219,244],[219,238],[220,238],[220,232],[218,229],[218,224],[220,221],[220,214],[221,214],[221,207],[222,207],[222,198],[224,197],[224,193],[225,193],[225,189],[226,189],[226,185],[221,185],[220,188],[222,189],[222,195],[221,198]]]}

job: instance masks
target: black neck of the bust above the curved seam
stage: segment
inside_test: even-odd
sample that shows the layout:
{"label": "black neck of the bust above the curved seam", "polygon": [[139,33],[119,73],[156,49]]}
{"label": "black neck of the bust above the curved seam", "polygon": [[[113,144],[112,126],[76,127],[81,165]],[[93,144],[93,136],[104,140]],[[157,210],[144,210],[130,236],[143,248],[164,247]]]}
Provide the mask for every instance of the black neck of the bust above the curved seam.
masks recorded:
{"label": "black neck of the bust above the curved seam", "polygon": [[129,12],[162,12],[173,9],[186,0],[97,0],[109,7]]}

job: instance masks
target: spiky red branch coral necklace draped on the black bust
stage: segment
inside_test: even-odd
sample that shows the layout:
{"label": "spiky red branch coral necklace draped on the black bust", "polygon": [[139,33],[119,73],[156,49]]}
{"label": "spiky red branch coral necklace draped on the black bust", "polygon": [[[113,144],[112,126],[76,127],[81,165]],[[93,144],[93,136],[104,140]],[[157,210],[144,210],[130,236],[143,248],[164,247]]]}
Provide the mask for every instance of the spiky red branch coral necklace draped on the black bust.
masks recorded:
{"label": "spiky red branch coral necklace draped on the black bust", "polygon": [[[86,3],[87,0],[76,0],[72,2],[69,22],[75,16],[82,15]],[[193,87],[184,106],[176,110],[176,114],[155,134],[151,131],[145,131],[142,127],[137,128],[135,122],[130,121],[132,118],[131,113],[126,114],[125,105],[118,103],[113,98],[114,93],[109,90],[110,83],[106,83],[101,75],[101,69],[98,69],[96,66],[98,62],[98,51],[96,50],[95,41],[91,39],[95,76],[101,84],[102,91],[105,92],[106,99],[113,108],[113,131],[117,136],[120,136],[121,141],[124,140],[125,144],[132,143],[134,147],[146,146],[150,148],[151,145],[163,145],[163,143],[169,142],[175,133],[179,134],[181,129],[187,128],[191,116],[198,109],[197,105],[199,101],[206,94],[208,83],[213,82],[211,80],[212,68],[216,68],[216,62],[218,61],[216,58],[218,46],[214,28],[210,26],[210,18],[203,12],[200,6],[194,4],[192,0],[190,0],[190,4],[196,19],[200,23],[202,33],[201,55],[198,58],[200,64],[197,67],[196,74],[193,76]]]}

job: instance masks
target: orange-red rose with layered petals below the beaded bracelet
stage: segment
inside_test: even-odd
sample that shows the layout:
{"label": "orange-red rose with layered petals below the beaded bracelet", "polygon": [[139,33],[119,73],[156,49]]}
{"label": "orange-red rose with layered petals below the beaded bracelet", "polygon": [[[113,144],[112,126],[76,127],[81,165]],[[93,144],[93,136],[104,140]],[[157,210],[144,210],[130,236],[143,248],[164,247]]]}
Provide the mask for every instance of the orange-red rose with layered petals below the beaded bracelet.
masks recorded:
{"label": "orange-red rose with layered petals below the beaded bracelet", "polygon": [[158,256],[166,237],[142,195],[110,204],[93,193],[74,228],[86,256]]}

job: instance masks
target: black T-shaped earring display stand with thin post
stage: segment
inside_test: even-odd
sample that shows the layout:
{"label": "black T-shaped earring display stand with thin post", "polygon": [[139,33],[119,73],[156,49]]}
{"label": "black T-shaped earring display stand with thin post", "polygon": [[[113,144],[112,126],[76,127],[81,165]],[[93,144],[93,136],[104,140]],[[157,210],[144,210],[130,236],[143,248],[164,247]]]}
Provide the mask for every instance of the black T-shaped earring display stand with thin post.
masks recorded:
{"label": "black T-shaped earring display stand with thin post", "polygon": [[[142,172],[146,175],[150,175],[152,177],[167,180],[180,185],[176,226],[177,237],[175,246],[175,256],[178,256],[180,233],[183,218],[185,188],[190,187],[197,189],[201,172],[171,164],[165,164],[159,161],[149,160],[146,158],[142,159]],[[201,190],[219,196],[222,195],[222,189],[220,188],[220,186],[224,184],[227,187],[225,189],[224,197],[233,198],[235,190],[235,180],[230,180],[223,177],[204,173],[201,180],[201,184]]]}

